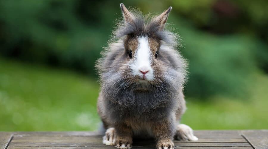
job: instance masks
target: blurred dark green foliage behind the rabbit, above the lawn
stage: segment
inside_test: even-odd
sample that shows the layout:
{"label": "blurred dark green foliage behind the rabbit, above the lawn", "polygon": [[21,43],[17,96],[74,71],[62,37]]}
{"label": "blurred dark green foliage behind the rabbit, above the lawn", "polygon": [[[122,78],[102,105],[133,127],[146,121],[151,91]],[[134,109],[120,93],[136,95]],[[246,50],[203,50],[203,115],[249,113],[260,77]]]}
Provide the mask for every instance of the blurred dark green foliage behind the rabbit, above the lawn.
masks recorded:
{"label": "blurred dark green foliage behind the rabbit, above the lawn", "polygon": [[[268,70],[267,1],[124,1],[147,13],[173,6],[168,22],[188,59],[188,97],[247,97],[256,71]],[[119,2],[0,0],[1,55],[85,72],[107,45]]]}

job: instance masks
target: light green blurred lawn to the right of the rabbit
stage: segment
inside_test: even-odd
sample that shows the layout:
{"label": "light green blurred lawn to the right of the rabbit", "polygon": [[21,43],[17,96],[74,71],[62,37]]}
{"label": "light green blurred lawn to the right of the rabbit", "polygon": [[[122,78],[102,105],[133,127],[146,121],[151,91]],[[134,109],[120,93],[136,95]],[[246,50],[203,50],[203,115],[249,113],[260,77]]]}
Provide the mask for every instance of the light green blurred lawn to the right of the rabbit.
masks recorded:
{"label": "light green blurred lawn to the right of the rabbit", "polygon": [[188,99],[182,122],[194,129],[268,129],[268,76],[259,73],[253,77],[248,98]]}

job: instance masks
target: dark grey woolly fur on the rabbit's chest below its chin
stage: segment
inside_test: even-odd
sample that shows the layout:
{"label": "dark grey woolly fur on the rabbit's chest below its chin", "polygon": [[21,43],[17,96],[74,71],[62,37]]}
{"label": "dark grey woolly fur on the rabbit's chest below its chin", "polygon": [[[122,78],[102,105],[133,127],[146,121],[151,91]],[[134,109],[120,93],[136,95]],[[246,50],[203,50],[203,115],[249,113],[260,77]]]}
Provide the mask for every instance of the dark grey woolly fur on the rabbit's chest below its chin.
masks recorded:
{"label": "dark grey woolly fur on the rabbit's chest below its chin", "polygon": [[135,119],[137,124],[158,121],[168,117],[176,105],[172,103],[170,94],[120,92],[117,95],[113,101],[107,100],[106,102],[107,114],[117,121]]}

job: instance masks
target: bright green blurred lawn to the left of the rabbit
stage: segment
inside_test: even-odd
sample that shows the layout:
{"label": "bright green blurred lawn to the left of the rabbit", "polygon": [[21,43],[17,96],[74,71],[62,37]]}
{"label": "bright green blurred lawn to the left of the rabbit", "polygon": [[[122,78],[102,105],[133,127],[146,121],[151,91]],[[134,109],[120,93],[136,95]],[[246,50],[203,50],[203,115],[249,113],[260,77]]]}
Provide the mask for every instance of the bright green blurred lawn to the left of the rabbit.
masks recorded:
{"label": "bright green blurred lawn to the left of the rabbit", "polygon": [[0,130],[94,130],[96,80],[65,70],[0,60]]}

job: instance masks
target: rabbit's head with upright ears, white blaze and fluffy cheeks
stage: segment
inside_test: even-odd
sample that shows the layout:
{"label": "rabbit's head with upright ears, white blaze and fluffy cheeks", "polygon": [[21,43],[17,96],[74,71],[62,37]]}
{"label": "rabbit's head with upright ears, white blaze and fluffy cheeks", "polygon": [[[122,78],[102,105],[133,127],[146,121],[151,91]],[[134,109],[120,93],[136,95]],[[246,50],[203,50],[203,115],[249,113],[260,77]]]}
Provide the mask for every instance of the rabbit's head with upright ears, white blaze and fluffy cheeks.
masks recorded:
{"label": "rabbit's head with upright ears, white blaze and fluffy cheeks", "polygon": [[[143,17],[120,4],[124,19],[114,32],[115,42],[97,63],[103,86],[148,90],[182,87],[186,63],[174,50],[177,35],[164,30],[169,7],[156,17]],[[109,88],[110,89],[110,88]]]}

